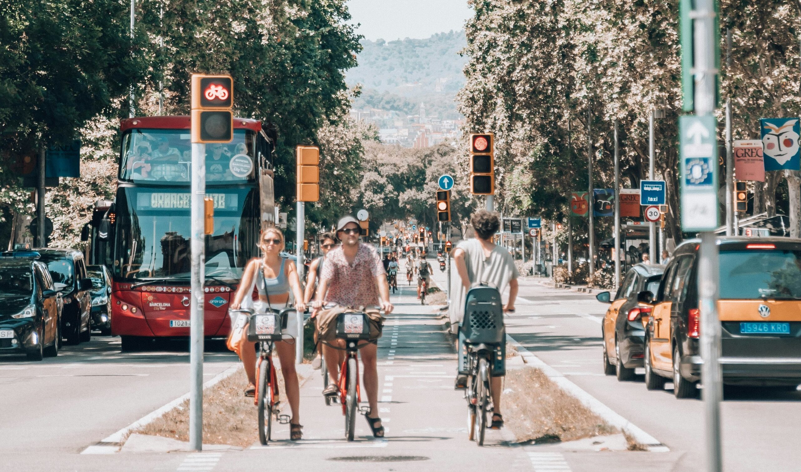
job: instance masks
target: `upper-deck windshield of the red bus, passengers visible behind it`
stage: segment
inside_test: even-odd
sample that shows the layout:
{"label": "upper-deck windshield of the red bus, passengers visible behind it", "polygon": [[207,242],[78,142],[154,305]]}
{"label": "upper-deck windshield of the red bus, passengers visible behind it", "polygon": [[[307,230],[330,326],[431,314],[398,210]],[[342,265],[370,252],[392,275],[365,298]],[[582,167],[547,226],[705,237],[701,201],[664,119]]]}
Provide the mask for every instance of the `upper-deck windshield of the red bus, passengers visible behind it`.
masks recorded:
{"label": "upper-deck windshield of the red bus, passengers visible behind it", "polygon": [[[206,145],[206,180],[252,182],[256,177],[253,131],[234,130],[231,143]],[[191,142],[189,130],[134,129],[123,135],[119,179],[147,184],[189,184]]]}

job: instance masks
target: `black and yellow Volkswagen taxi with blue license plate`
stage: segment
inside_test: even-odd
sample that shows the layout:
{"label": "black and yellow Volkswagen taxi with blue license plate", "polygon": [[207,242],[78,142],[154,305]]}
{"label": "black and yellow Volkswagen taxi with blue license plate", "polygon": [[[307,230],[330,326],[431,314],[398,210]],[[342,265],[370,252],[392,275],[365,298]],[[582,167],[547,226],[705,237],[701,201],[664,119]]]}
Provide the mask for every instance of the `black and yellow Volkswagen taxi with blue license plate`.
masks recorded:
{"label": "black and yellow Volkswagen taxi with blue license plate", "polygon": [[[651,302],[646,325],[646,387],[674,383],[695,397],[701,379],[698,240],[681,244]],[[792,389],[801,384],[801,240],[718,238],[723,383]],[[653,299],[653,300],[652,300]]]}

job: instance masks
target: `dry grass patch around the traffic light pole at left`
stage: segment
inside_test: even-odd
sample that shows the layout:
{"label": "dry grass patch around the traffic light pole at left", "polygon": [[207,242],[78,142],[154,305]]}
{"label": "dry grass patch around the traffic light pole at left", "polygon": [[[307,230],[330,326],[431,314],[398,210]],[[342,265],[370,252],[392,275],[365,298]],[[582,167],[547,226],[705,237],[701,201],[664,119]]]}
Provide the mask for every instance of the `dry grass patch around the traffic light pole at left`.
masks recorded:
{"label": "dry grass patch around the traffic light pole at left", "polygon": [[[302,379],[301,379],[302,382]],[[278,373],[280,397],[284,409],[289,410],[284,393],[284,378]],[[203,390],[203,444],[230,444],[248,447],[259,439],[256,425],[256,405],[252,397],[244,397],[248,377],[239,368],[230,377]],[[275,422],[275,419],[273,419]],[[151,434],[164,438],[189,441],[189,401],[171,409],[140,430],[139,434]]]}

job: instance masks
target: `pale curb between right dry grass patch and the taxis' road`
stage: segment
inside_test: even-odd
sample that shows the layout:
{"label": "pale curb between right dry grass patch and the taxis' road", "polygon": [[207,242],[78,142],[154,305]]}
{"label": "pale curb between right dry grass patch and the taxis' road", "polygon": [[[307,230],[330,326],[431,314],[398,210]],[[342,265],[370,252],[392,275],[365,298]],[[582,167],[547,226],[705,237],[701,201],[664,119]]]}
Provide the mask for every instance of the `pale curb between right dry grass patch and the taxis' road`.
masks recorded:
{"label": "pale curb between right dry grass patch and the taxis' road", "polygon": [[615,426],[618,430],[625,431],[627,434],[630,434],[632,438],[642,446],[645,446],[649,452],[669,452],[670,448],[668,448],[662,442],[659,442],[657,438],[654,438],[650,434],[646,433],[638,426],[632,424],[626,418],[623,418],[621,415],[614,412],[613,409],[604,405],[598,398],[593,397],[590,393],[587,393],[584,389],[579,387],[578,385],[574,384],[572,381],[568,380],[562,373],[557,371],[557,369],[553,369],[550,365],[545,364],[539,357],[535,356],[533,353],[529,352],[528,349],[525,349],[519,342],[515,341],[513,337],[506,335],[507,340],[514,345],[515,349],[517,349],[517,353],[520,353],[520,356],[523,358],[526,364],[536,367],[540,369],[549,379],[555,382],[559,387],[565,390],[567,393],[570,393],[574,397],[581,401],[583,405],[590,409],[594,414],[597,414],[599,417],[603,418],[606,422],[608,422],[611,426]]}

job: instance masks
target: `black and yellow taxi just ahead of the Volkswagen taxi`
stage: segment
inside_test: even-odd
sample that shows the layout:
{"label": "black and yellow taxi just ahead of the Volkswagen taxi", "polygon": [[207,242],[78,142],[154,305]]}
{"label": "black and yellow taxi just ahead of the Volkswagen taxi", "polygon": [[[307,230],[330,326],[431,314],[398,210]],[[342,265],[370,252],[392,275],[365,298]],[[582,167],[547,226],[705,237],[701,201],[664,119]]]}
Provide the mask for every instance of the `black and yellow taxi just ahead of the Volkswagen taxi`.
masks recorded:
{"label": "black and yellow taxi just ahead of the Volkswagen taxi", "polygon": [[665,266],[635,264],[626,272],[614,299],[610,292],[600,292],[595,298],[610,303],[601,325],[603,339],[603,371],[617,374],[619,381],[634,378],[634,369],[643,366],[645,323],[650,307],[639,306],[639,292],[656,292]]}

